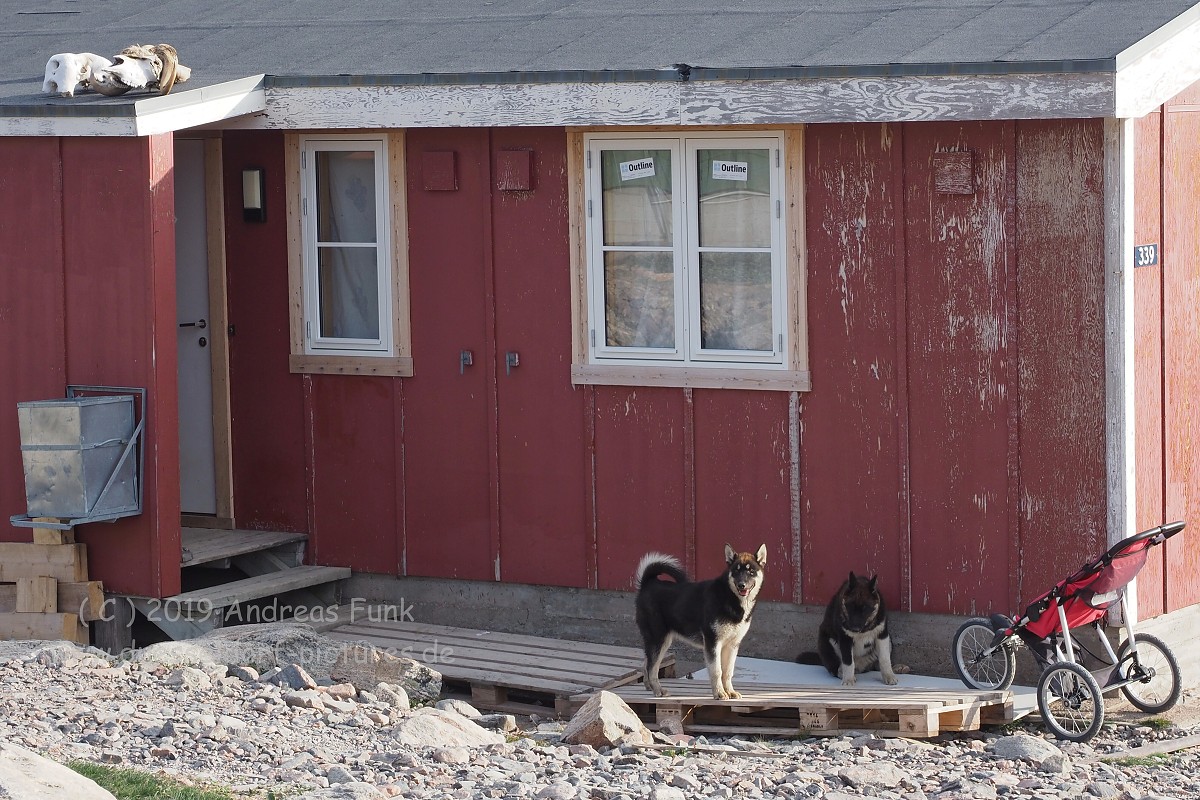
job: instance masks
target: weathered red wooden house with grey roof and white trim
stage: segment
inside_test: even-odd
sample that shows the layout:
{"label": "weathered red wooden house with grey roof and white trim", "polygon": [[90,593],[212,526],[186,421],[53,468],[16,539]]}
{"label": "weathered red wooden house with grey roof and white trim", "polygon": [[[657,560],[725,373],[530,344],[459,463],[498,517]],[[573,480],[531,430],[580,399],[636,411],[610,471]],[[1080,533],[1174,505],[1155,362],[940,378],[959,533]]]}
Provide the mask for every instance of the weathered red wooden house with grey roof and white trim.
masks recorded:
{"label": "weathered red wooden house with grey roof and white trim", "polygon": [[[145,387],[112,591],[197,525],[480,614],[766,542],[779,655],[850,570],[952,626],[1200,511],[1192,2],[0,7],[0,512],[16,403]],[[168,96],[38,92],[151,40]]]}

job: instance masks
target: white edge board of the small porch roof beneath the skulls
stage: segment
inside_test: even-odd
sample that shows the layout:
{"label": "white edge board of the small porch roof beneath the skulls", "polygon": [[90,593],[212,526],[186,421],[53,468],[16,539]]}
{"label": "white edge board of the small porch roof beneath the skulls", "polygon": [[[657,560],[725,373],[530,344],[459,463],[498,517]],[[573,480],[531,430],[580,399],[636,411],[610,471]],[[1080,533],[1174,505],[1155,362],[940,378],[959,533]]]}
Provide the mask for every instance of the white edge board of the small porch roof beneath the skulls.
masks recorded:
{"label": "white edge board of the small porch roof beneath the skulls", "polygon": [[0,136],[150,136],[236,119],[266,108],[263,76],[132,102],[0,108]]}

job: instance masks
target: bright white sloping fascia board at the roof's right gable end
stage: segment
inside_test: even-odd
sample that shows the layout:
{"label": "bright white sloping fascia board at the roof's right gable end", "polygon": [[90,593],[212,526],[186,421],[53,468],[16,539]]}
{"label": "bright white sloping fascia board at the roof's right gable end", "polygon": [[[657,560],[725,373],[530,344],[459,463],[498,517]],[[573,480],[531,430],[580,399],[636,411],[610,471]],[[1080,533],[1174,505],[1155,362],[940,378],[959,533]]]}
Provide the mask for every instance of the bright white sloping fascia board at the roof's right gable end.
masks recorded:
{"label": "bright white sloping fascia board at the roof's right gable end", "polygon": [[1200,80],[1200,19],[1129,58],[1133,49],[1117,56],[1116,112],[1114,116],[1145,116]]}

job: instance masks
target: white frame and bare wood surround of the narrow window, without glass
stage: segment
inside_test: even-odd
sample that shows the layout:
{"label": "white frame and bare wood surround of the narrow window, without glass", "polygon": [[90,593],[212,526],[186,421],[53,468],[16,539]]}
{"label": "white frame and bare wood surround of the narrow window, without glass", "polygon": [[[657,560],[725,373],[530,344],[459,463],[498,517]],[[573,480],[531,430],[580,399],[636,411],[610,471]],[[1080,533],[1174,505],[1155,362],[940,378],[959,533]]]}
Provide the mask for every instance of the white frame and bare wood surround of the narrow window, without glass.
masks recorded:
{"label": "white frame and bare wood surround of the narrow window, without glass", "polygon": [[[377,253],[379,337],[320,336],[317,240],[318,152],[374,154],[376,239],[330,242],[373,247]],[[404,197],[402,131],[347,134],[288,134],[286,144],[289,283],[292,294],[290,371],[298,373],[413,374],[408,315],[408,213]]]}

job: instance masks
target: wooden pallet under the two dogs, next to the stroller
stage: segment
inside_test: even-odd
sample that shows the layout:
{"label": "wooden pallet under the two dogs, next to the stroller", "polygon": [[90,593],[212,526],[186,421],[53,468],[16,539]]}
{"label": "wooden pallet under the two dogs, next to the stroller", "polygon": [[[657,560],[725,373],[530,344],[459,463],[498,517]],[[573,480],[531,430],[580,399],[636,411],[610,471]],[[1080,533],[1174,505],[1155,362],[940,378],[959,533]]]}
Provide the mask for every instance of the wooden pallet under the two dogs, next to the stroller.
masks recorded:
{"label": "wooden pallet under the two dogs, next to the stroller", "polygon": [[[906,686],[776,686],[736,684],[742,698],[715,700],[707,680],[662,681],[668,697],[642,685],[620,696],[650,727],[677,720],[686,733],[811,736],[865,730],[893,736],[936,736],[1013,720],[1012,692]],[[587,700],[586,694],[572,698]]]}

